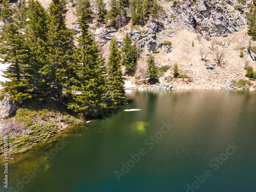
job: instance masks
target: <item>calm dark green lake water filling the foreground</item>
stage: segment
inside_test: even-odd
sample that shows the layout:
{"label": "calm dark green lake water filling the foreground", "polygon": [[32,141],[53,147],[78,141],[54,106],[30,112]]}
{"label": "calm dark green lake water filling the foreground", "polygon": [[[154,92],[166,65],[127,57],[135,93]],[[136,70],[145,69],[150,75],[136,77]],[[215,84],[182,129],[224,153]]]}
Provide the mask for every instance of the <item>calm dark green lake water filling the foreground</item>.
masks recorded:
{"label": "calm dark green lake water filling the foreground", "polygon": [[[48,150],[16,157],[22,160],[9,166],[9,189],[256,191],[255,92],[129,97],[133,101],[112,117],[78,127]],[[0,191],[15,190],[2,184]]]}

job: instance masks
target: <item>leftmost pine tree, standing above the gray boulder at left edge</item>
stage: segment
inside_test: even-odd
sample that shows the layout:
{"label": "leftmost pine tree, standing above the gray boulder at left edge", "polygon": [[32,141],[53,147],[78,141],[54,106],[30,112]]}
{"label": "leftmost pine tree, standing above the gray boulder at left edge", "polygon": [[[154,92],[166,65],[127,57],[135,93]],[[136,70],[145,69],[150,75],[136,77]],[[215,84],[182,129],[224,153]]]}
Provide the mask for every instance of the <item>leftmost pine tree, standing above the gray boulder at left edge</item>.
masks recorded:
{"label": "leftmost pine tree, standing above the gray boulder at left edge", "polygon": [[28,82],[24,78],[28,60],[24,41],[24,35],[14,23],[6,26],[1,40],[0,54],[5,55],[1,56],[4,59],[2,62],[11,63],[3,71],[3,76],[10,81],[2,82],[2,86],[11,95],[10,99],[14,101],[31,98],[31,92],[33,92],[33,90],[28,89]]}

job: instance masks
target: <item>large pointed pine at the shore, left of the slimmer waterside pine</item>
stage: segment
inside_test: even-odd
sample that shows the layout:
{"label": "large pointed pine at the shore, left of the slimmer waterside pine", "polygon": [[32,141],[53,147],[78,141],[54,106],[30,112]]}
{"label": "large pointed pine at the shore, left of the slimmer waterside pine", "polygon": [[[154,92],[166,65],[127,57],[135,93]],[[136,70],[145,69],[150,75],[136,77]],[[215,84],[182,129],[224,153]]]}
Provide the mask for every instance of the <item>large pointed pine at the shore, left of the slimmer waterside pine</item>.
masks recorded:
{"label": "large pointed pine at the shore, left of the slimmer waterside pine", "polygon": [[87,116],[98,116],[102,113],[104,102],[102,95],[105,80],[102,74],[104,59],[92,35],[89,34],[86,13],[82,12],[79,21],[81,35],[79,46],[74,54],[74,74],[70,78],[67,93],[71,95],[68,108]]}

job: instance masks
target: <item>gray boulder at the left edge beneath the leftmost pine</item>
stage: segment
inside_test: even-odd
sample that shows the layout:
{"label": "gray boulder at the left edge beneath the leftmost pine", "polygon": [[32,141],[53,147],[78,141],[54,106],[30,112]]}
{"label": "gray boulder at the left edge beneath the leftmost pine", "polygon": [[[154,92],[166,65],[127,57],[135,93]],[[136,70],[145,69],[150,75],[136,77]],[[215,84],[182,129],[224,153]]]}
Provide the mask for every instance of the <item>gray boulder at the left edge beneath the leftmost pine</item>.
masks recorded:
{"label": "gray boulder at the left edge beneath the leftmost pine", "polygon": [[10,101],[7,97],[4,97],[0,101],[0,121],[7,119],[17,108],[18,104],[16,102]]}

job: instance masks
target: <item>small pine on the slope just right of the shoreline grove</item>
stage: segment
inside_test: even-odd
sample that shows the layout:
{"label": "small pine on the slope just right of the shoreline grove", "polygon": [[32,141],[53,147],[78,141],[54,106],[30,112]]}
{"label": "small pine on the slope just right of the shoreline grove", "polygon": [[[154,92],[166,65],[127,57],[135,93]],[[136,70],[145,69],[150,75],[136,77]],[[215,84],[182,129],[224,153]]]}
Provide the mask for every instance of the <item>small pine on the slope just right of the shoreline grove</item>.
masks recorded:
{"label": "small pine on the slope just right of the shoreline grove", "polygon": [[133,70],[134,64],[137,61],[136,45],[132,45],[132,43],[130,35],[126,33],[123,39],[122,65],[124,65],[129,71]]}

